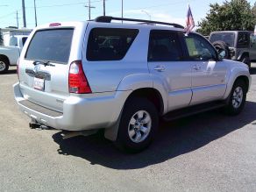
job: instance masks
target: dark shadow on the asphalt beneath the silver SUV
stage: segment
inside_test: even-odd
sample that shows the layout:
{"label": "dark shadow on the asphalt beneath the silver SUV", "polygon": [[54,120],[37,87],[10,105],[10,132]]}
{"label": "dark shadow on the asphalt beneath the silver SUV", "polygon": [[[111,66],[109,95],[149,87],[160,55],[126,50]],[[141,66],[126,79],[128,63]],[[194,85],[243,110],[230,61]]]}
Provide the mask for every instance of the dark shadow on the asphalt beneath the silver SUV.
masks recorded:
{"label": "dark shadow on the asphalt beneath the silver SUV", "polygon": [[153,144],[136,154],[119,152],[110,141],[99,135],[63,140],[58,132],[53,135],[53,140],[60,146],[58,153],[62,155],[73,155],[89,160],[92,165],[113,169],[137,169],[193,152],[246,124],[255,124],[255,111],[256,103],[246,102],[245,110],[237,117],[225,116],[216,110],[162,122]]}

